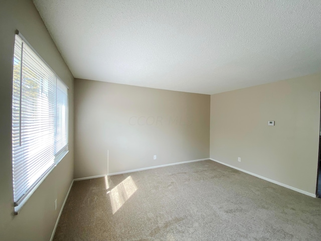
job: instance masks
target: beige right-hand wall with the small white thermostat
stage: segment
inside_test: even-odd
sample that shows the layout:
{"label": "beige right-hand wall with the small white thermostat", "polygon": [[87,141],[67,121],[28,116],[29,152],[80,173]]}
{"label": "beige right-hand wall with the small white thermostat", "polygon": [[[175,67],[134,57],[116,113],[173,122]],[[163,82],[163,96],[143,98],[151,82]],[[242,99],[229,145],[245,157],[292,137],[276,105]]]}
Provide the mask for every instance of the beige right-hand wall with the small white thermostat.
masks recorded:
{"label": "beige right-hand wall with the small white thermostat", "polygon": [[315,74],[212,95],[211,158],[315,194],[320,91]]}

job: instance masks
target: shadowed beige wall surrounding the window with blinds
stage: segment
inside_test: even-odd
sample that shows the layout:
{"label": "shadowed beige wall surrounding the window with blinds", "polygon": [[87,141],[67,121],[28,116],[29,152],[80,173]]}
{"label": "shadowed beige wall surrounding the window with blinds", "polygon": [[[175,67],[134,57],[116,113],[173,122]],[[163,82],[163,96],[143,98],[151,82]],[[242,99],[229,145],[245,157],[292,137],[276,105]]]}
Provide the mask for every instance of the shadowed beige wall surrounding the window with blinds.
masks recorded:
{"label": "shadowed beige wall surrounding the window with blinds", "polygon": [[[15,31],[18,29],[69,86],[69,150],[37,191],[13,215],[11,104]],[[0,7],[0,240],[49,240],[73,179],[73,76],[32,1],[2,1]],[[58,208],[54,210],[54,201]]]}

